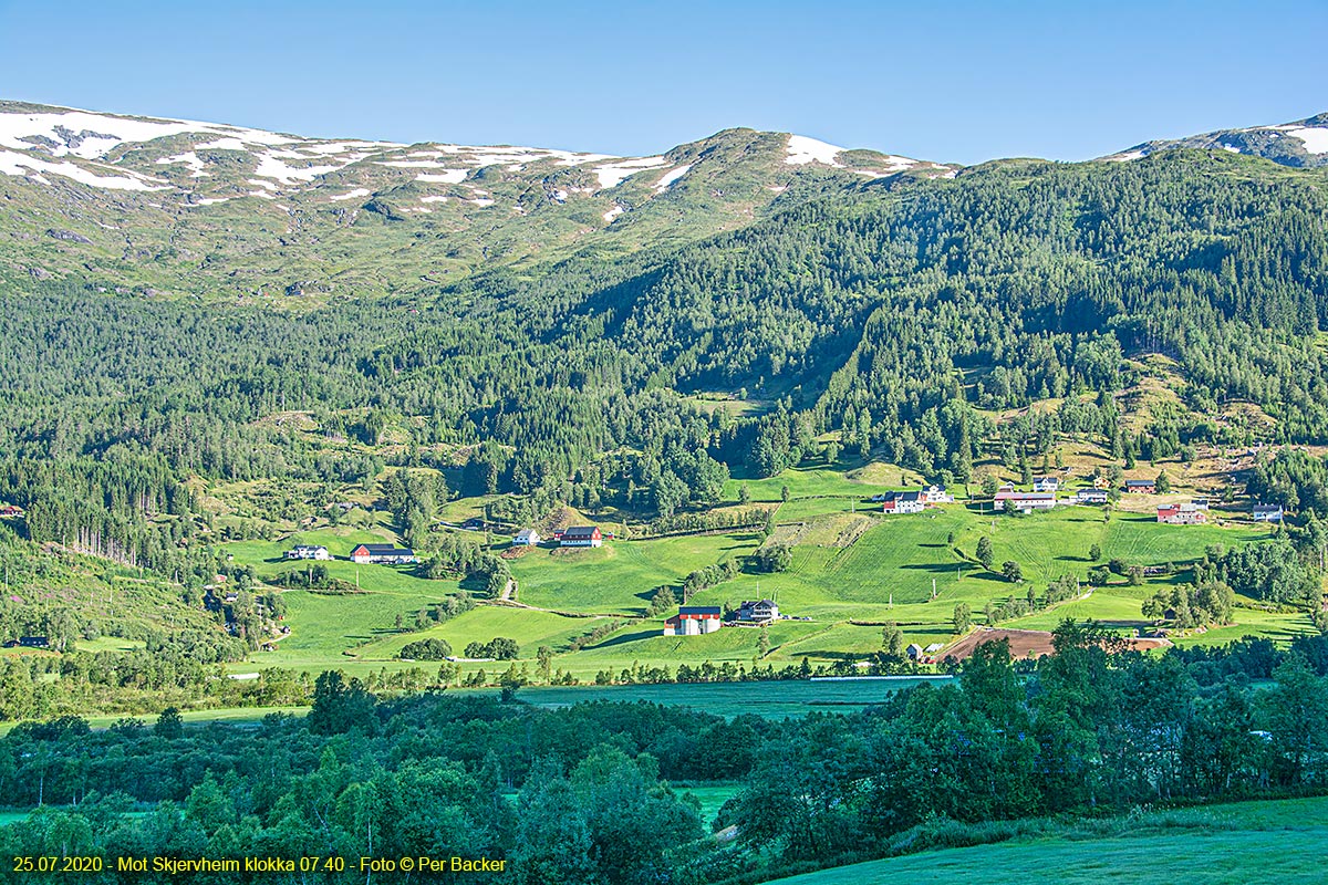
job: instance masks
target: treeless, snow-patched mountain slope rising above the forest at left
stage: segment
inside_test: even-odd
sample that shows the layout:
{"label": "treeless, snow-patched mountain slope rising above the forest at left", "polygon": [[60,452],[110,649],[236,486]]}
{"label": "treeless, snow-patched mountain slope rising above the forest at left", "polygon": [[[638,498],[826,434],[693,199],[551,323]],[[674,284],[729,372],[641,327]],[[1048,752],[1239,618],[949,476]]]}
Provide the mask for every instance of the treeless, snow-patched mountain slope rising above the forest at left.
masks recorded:
{"label": "treeless, snow-patched mountain slope rising above the forest at left", "polygon": [[955,167],[726,130],[653,157],[311,139],[0,102],[0,281],[371,296],[741,227],[825,188]]}

